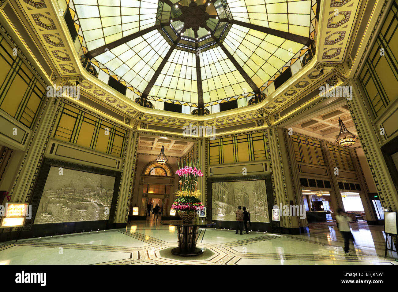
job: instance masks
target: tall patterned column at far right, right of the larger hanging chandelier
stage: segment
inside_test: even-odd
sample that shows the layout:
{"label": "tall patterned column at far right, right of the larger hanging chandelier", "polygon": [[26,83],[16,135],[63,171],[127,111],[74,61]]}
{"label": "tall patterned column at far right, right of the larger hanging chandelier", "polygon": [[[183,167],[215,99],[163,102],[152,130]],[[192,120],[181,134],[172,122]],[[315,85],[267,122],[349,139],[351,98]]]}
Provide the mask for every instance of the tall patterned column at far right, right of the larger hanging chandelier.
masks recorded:
{"label": "tall patterned column at far right, right of the larger hanging chandelier", "polygon": [[380,150],[380,130],[372,122],[360,85],[352,78],[348,79],[346,85],[353,88],[353,97],[347,100],[347,105],[371,170],[380,203],[383,207],[391,207],[393,211],[397,211],[398,195]]}

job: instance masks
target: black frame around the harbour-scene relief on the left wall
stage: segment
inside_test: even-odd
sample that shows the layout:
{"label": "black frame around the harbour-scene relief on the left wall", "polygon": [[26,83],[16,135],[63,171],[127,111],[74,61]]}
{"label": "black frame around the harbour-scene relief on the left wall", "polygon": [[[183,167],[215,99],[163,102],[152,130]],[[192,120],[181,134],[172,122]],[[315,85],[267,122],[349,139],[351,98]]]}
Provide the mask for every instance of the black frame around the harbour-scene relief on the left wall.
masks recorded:
{"label": "black frame around the harbour-scene relief on the left wall", "polygon": [[[111,203],[111,209],[109,211],[108,220],[96,220],[96,221],[79,221],[79,222],[62,222],[62,223],[50,223],[50,224],[33,224],[43,193],[43,189],[47,180],[51,166],[62,167],[66,169],[90,172],[94,174],[103,174],[107,176],[115,177],[115,185],[113,186],[113,198]],[[121,172],[115,170],[108,170],[103,168],[97,168],[93,166],[86,166],[76,164],[72,162],[59,161],[55,159],[44,158],[43,164],[39,170],[38,178],[33,188],[33,194],[30,197],[29,205],[32,206],[32,218],[26,220],[25,226],[22,228],[19,238],[32,238],[37,236],[51,236],[56,234],[66,234],[74,232],[85,232],[92,230],[105,230],[120,228],[117,227],[120,224],[113,223],[113,218],[116,211],[116,203],[119,194],[119,185],[121,180]]]}

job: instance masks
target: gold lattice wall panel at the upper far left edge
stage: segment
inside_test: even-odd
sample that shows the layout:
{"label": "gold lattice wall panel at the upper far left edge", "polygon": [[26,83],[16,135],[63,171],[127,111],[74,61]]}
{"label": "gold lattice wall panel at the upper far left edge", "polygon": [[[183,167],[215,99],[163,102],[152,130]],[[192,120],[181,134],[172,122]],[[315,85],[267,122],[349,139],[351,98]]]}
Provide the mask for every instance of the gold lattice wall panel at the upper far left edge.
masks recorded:
{"label": "gold lattice wall panel at the upper far left edge", "polygon": [[0,68],[0,109],[32,128],[46,90],[2,35]]}

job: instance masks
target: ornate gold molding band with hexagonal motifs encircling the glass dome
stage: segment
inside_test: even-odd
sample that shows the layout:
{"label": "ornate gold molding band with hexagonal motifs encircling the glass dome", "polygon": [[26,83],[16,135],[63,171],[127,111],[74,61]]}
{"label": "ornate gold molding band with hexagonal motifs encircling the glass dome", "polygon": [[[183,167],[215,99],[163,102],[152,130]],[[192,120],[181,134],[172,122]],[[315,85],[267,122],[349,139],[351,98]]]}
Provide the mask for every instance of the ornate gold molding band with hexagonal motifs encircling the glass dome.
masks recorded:
{"label": "ornate gold molding band with hexagonal motifs encircling the glass dome", "polygon": [[[265,100],[258,104],[245,107],[244,112],[242,112],[242,108],[236,108],[207,116],[188,116],[186,114],[170,112],[166,116],[161,110],[139,106],[131,99],[84,70],[72,46],[72,40],[62,15],[55,13],[59,9],[55,1],[41,0],[40,7],[35,5],[35,2],[30,1],[15,2],[18,3],[20,14],[27,19],[32,30],[35,31],[35,35],[42,44],[42,49],[46,51],[46,57],[53,64],[55,71],[62,78],[70,80],[73,80],[73,78],[77,79],[77,76],[80,75],[82,79],[80,89],[84,95],[105,102],[107,106],[123,112],[123,114],[132,118],[135,118],[138,112],[143,112],[152,116],[153,121],[173,116],[173,118],[185,120],[187,124],[189,124],[189,121],[204,121],[208,125],[215,122],[218,123],[217,120],[224,120],[224,123],[227,123],[234,120],[250,119],[255,113],[258,114],[259,110],[274,116],[275,113],[286,107],[287,104],[290,105],[293,101],[299,102],[308,92],[308,88],[312,88],[314,84],[317,84],[318,82],[315,81],[318,81],[322,76],[314,72],[314,68],[318,68],[318,70],[321,67],[324,68],[324,75],[326,75],[336,65],[340,65],[343,62],[347,43],[351,38],[352,27],[358,14],[357,10],[362,0],[340,2],[337,8],[339,9],[339,14],[336,14],[336,16],[334,15],[334,9],[336,9],[334,6],[337,2],[335,0],[322,1],[320,7],[320,27],[318,29],[318,36],[316,37],[316,54],[310,63],[298,70],[293,77],[269,94]],[[325,52],[326,54],[324,54]],[[323,59],[325,56],[326,59]],[[336,70],[335,73],[337,73]],[[343,75],[338,77],[339,79],[343,79]],[[324,76],[321,79],[323,80]],[[243,116],[246,117],[243,118]]]}

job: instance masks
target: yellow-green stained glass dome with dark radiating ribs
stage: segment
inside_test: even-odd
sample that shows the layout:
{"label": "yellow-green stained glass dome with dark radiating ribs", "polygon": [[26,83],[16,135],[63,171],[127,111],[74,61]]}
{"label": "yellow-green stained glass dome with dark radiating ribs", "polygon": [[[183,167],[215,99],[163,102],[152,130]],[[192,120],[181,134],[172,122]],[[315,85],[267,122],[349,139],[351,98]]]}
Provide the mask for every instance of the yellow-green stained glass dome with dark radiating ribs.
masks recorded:
{"label": "yellow-green stained glass dome with dark radiating ribs", "polygon": [[[272,93],[314,39],[316,0],[70,0],[83,53],[125,95],[220,111]],[[293,69],[294,70],[293,70]]]}

